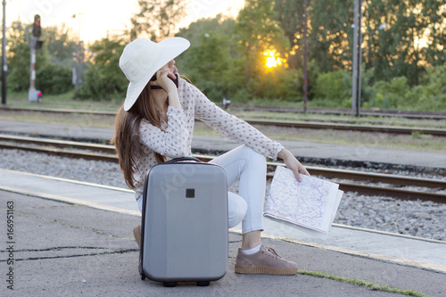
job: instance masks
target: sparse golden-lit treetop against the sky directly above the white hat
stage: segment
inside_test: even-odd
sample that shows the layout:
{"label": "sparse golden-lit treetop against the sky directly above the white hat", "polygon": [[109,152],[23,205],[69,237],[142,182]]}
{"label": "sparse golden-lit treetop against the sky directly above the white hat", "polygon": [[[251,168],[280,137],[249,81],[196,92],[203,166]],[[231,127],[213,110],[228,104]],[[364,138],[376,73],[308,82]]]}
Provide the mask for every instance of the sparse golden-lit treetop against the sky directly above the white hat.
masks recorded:
{"label": "sparse golden-lit treetop against the sky directly above the white hat", "polygon": [[172,37],[186,15],[186,0],[138,0],[140,12],[130,19],[130,39],[145,36],[153,41]]}

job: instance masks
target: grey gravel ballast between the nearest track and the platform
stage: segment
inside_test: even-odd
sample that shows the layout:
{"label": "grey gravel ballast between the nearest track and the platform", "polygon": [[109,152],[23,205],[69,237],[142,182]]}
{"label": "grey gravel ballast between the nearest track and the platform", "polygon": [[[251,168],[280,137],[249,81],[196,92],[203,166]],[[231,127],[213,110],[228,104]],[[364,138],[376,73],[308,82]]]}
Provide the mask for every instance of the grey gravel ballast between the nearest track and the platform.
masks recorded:
{"label": "grey gravel ballast between the nearest track and the platform", "polygon": [[[0,167],[128,188],[119,165],[105,161],[86,161],[1,149]],[[233,186],[232,189],[234,188]],[[389,197],[364,196],[349,192],[343,194],[335,223],[444,241],[446,240],[446,204],[401,201]]]}

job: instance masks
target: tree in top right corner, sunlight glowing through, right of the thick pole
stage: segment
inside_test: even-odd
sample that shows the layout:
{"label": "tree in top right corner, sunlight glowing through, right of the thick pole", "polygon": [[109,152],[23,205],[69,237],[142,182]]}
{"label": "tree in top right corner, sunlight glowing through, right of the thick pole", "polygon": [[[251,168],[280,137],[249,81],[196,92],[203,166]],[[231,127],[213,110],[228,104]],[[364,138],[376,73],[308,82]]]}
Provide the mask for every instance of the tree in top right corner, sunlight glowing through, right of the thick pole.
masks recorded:
{"label": "tree in top right corner, sunlight glowing through, right of the thick pole", "polygon": [[[369,68],[375,78],[419,83],[425,67],[446,62],[446,5],[437,0],[365,1]],[[381,24],[385,29],[378,30]]]}

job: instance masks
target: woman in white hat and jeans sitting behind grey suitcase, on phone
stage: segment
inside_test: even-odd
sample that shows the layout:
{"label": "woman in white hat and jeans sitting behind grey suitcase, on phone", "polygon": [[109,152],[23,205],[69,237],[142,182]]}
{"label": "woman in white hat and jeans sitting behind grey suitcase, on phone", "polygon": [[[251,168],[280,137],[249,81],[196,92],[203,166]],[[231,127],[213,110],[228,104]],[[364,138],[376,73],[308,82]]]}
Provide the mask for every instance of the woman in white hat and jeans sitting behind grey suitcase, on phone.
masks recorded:
{"label": "woman in white hat and jeans sitting behind grey suitcase, on phone", "polygon": [[[243,222],[243,241],[235,272],[293,275],[297,272],[295,263],[282,259],[273,249],[261,244],[265,156],[283,159],[298,180],[300,174],[309,173],[281,144],[221,110],[184,79],[180,78],[176,86],[172,79],[178,70],[173,59],[189,45],[181,37],[167,38],[158,44],[136,39],[125,47],[120,57],[120,68],[130,83],[117,115],[113,142],[126,183],[136,191],[142,210],[145,173],[159,162],[190,156],[194,119],[202,120],[220,134],[244,144],[211,161],[225,169],[228,187],[239,180],[239,193],[228,193],[229,227]],[[139,232],[136,227],[138,244]]]}

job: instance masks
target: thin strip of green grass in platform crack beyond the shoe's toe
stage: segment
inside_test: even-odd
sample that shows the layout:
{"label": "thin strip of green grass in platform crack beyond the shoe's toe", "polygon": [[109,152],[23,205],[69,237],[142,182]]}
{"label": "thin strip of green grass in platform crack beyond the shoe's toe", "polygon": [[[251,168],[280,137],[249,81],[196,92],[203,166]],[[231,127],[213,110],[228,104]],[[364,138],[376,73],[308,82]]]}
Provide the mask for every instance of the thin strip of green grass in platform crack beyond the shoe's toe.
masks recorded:
{"label": "thin strip of green grass in platform crack beyond the shoe's toe", "polygon": [[414,290],[401,290],[401,289],[396,289],[396,288],[389,288],[388,285],[376,285],[374,283],[366,282],[362,279],[357,279],[357,278],[334,276],[334,275],[328,275],[328,274],[324,274],[321,272],[308,271],[308,270],[299,270],[297,273],[300,275],[304,275],[304,276],[316,276],[316,277],[331,279],[331,280],[335,280],[337,282],[348,283],[351,285],[360,285],[360,286],[367,288],[368,290],[373,290],[373,291],[399,293],[399,294],[407,295],[407,296],[425,297],[424,293],[418,293],[417,291],[414,291]]}

